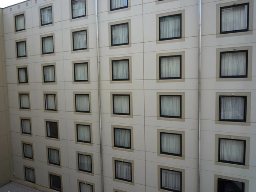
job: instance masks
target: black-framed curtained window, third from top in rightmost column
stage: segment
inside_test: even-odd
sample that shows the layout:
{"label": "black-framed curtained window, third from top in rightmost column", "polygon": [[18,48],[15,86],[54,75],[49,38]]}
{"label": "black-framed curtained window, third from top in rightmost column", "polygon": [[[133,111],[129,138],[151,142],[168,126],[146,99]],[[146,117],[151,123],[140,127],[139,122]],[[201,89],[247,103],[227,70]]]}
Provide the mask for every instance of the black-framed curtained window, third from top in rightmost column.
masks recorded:
{"label": "black-framed curtained window, third from top in rightmost column", "polygon": [[219,120],[246,122],[247,96],[219,96]]}

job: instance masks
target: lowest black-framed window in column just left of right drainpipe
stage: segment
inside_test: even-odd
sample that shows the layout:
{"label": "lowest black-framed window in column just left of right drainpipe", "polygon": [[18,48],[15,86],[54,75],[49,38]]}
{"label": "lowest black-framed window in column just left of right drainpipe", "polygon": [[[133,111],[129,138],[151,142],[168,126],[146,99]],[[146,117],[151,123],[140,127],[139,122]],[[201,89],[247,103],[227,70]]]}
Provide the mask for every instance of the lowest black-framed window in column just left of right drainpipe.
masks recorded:
{"label": "lowest black-framed window in column just left of right drainpipe", "polygon": [[182,172],[160,168],[161,189],[182,192]]}

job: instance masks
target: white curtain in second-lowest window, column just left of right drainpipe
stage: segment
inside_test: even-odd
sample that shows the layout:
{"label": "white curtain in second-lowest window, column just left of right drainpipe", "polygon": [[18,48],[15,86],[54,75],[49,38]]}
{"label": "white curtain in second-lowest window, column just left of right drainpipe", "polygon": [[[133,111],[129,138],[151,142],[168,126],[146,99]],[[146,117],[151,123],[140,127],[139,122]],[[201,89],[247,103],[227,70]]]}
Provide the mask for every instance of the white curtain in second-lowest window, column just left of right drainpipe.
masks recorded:
{"label": "white curtain in second-lowest window, column just left of right drainpipe", "polygon": [[162,151],[172,154],[180,154],[180,135],[161,134]]}

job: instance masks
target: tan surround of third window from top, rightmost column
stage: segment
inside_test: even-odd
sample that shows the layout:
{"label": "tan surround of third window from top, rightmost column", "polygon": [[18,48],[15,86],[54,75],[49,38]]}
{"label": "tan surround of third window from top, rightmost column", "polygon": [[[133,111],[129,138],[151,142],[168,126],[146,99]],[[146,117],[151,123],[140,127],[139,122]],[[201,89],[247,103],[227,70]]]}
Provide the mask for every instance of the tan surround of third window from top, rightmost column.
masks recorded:
{"label": "tan surround of third window from top, rightmost column", "polygon": [[[247,96],[246,122],[219,121],[219,96]],[[216,92],[215,124],[250,126],[251,93],[249,92]]]}

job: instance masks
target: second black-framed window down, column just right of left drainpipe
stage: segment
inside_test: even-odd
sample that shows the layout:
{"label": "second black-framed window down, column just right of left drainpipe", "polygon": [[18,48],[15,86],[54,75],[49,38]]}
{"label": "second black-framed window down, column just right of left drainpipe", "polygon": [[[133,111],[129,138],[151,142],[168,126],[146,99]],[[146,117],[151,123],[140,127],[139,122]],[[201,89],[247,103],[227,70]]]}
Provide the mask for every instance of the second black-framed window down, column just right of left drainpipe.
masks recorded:
{"label": "second black-framed window down, column just right of left drainpipe", "polygon": [[129,23],[111,25],[111,46],[129,44]]}

